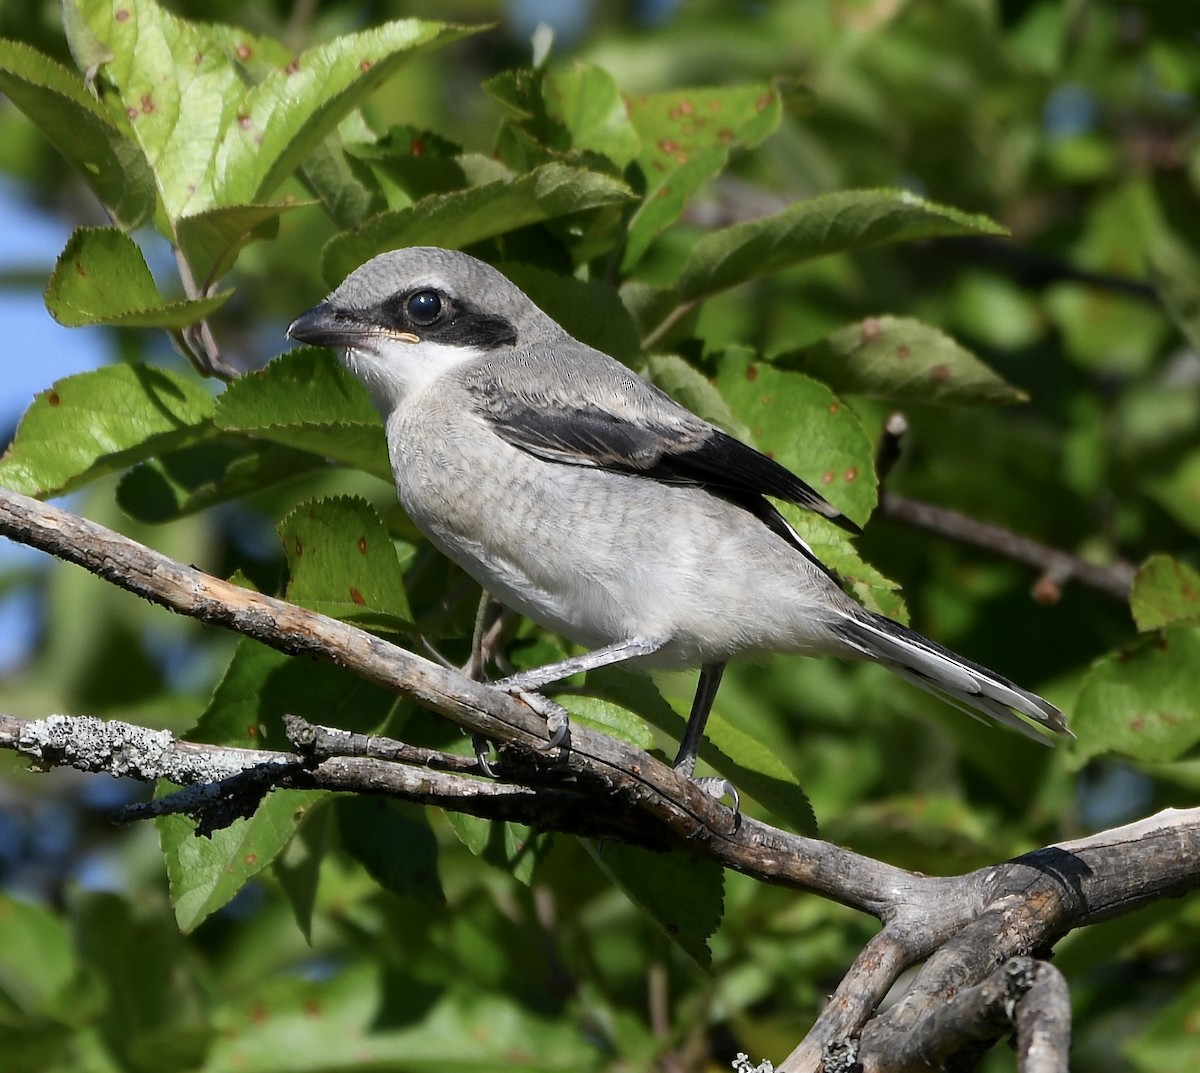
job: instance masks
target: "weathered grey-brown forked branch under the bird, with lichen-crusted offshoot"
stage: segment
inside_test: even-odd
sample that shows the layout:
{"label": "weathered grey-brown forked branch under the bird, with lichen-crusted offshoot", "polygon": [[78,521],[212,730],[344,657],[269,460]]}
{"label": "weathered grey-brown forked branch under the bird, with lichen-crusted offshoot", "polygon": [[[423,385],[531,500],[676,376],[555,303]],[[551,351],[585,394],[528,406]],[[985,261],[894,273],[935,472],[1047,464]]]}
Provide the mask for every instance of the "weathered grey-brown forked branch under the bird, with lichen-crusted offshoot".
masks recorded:
{"label": "weathered grey-brown forked branch under the bird, with lichen-crusted offshoot", "polygon": [[[143,807],[146,814],[181,810],[215,827],[252,809],[272,787],[385,793],[542,829],[685,849],[877,917],[882,931],[782,1069],[815,1073],[822,1065],[850,1068],[854,1062],[863,1069],[907,1068],[899,1065],[901,1048],[912,1055],[943,1054],[988,1032],[995,1038],[1010,1023],[1024,1068],[1064,1068],[1069,1027],[1061,977],[1034,966],[1030,993],[1040,988],[1050,1005],[1009,1002],[1012,1012],[1001,1023],[997,969],[1012,958],[1044,953],[1073,928],[1200,886],[1194,864],[1200,809],[1168,810],[961,876],[923,876],[750,816],[734,819],[660,760],[583,726],[572,729],[569,750],[547,755],[540,749],[544,721],[502,690],[346,623],[211,577],[56,508],[0,490],[0,533],[170,610],[403,693],[500,743],[500,772],[511,780],[479,779],[474,761],[462,757],[300,720],[288,725],[296,751],[272,753],[180,742],[163,731],[86,717],[0,717],[0,748],[22,751],[42,767],[73,765],[197,787]],[[922,961],[901,999],[876,1015],[901,973]],[[947,995],[961,999],[949,1008]]]}

